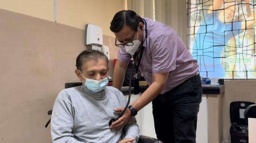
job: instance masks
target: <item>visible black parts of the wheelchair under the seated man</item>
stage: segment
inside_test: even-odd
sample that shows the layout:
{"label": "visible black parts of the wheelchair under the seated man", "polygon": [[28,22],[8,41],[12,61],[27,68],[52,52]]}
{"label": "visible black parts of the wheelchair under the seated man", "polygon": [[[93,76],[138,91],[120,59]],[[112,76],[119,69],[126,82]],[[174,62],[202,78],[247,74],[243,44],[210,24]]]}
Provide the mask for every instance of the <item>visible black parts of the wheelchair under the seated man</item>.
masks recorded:
{"label": "visible black parts of the wheelchair under the seated man", "polygon": [[[65,89],[66,88],[71,88],[71,87],[75,87],[75,86],[80,86],[82,85],[81,82],[76,82],[76,83],[65,83]],[[47,112],[48,115],[52,115],[53,110],[49,110]],[[51,118],[47,121],[45,127],[47,128],[47,126],[49,125],[49,123],[51,122]],[[139,137],[139,141],[138,143],[162,143],[162,141],[155,139],[153,137],[149,137],[149,136],[142,136],[140,135]]]}

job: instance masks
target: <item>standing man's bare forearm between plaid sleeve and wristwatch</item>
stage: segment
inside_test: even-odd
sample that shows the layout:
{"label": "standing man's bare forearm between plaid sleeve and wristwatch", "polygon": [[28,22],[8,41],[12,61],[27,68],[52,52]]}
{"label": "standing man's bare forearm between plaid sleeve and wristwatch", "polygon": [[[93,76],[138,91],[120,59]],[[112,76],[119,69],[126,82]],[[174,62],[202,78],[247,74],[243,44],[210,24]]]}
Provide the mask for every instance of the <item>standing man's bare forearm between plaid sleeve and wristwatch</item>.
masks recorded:
{"label": "standing man's bare forearm between plaid sleeve and wristwatch", "polygon": [[164,84],[153,82],[148,89],[144,91],[143,94],[132,104],[132,106],[138,111],[141,110],[161,93],[164,86]]}

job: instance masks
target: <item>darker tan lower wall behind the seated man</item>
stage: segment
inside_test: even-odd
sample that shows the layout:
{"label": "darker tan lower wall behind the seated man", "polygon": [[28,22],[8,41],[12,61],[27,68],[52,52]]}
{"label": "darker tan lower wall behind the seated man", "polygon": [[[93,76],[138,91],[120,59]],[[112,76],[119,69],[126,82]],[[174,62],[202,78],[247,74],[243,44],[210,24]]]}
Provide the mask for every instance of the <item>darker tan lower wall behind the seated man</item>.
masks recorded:
{"label": "darker tan lower wall behind the seated man", "polygon": [[[110,48],[110,72],[118,48]],[[84,30],[0,9],[0,143],[51,143],[44,127],[59,91],[77,82]]]}

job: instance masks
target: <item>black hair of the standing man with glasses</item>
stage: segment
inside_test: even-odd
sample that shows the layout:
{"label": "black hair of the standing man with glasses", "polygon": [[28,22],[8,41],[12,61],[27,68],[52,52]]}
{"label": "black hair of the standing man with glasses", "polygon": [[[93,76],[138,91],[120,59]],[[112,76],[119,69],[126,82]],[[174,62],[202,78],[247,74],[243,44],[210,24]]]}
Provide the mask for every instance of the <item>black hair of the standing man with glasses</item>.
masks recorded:
{"label": "black hair of the standing man with glasses", "polygon": [[112,32],[120,32],[124,25],[128,25],[136,31],[140,22],[144,24],[144,21],[137,13],[131,10],[122,10],[115,13],[110,23],[110,30]]}

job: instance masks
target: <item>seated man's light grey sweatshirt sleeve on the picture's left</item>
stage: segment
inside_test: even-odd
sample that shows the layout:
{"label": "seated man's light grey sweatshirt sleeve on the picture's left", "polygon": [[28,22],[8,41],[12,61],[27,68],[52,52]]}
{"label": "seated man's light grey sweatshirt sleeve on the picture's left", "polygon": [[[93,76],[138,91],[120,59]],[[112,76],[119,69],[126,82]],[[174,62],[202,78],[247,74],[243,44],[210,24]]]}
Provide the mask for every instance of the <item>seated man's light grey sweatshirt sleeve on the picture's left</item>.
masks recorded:
{"label": "seated man's light grey sweatshirt sleeve on the picture's left", "polygon": [[[61,94],[61,92],[60,92]],[[60,94],[58,96],[60,96]],[[51,117],[51,135],[53,143],[84,143],[74,138],[72,130],[74,117],[70,101],[56,99]]]}

